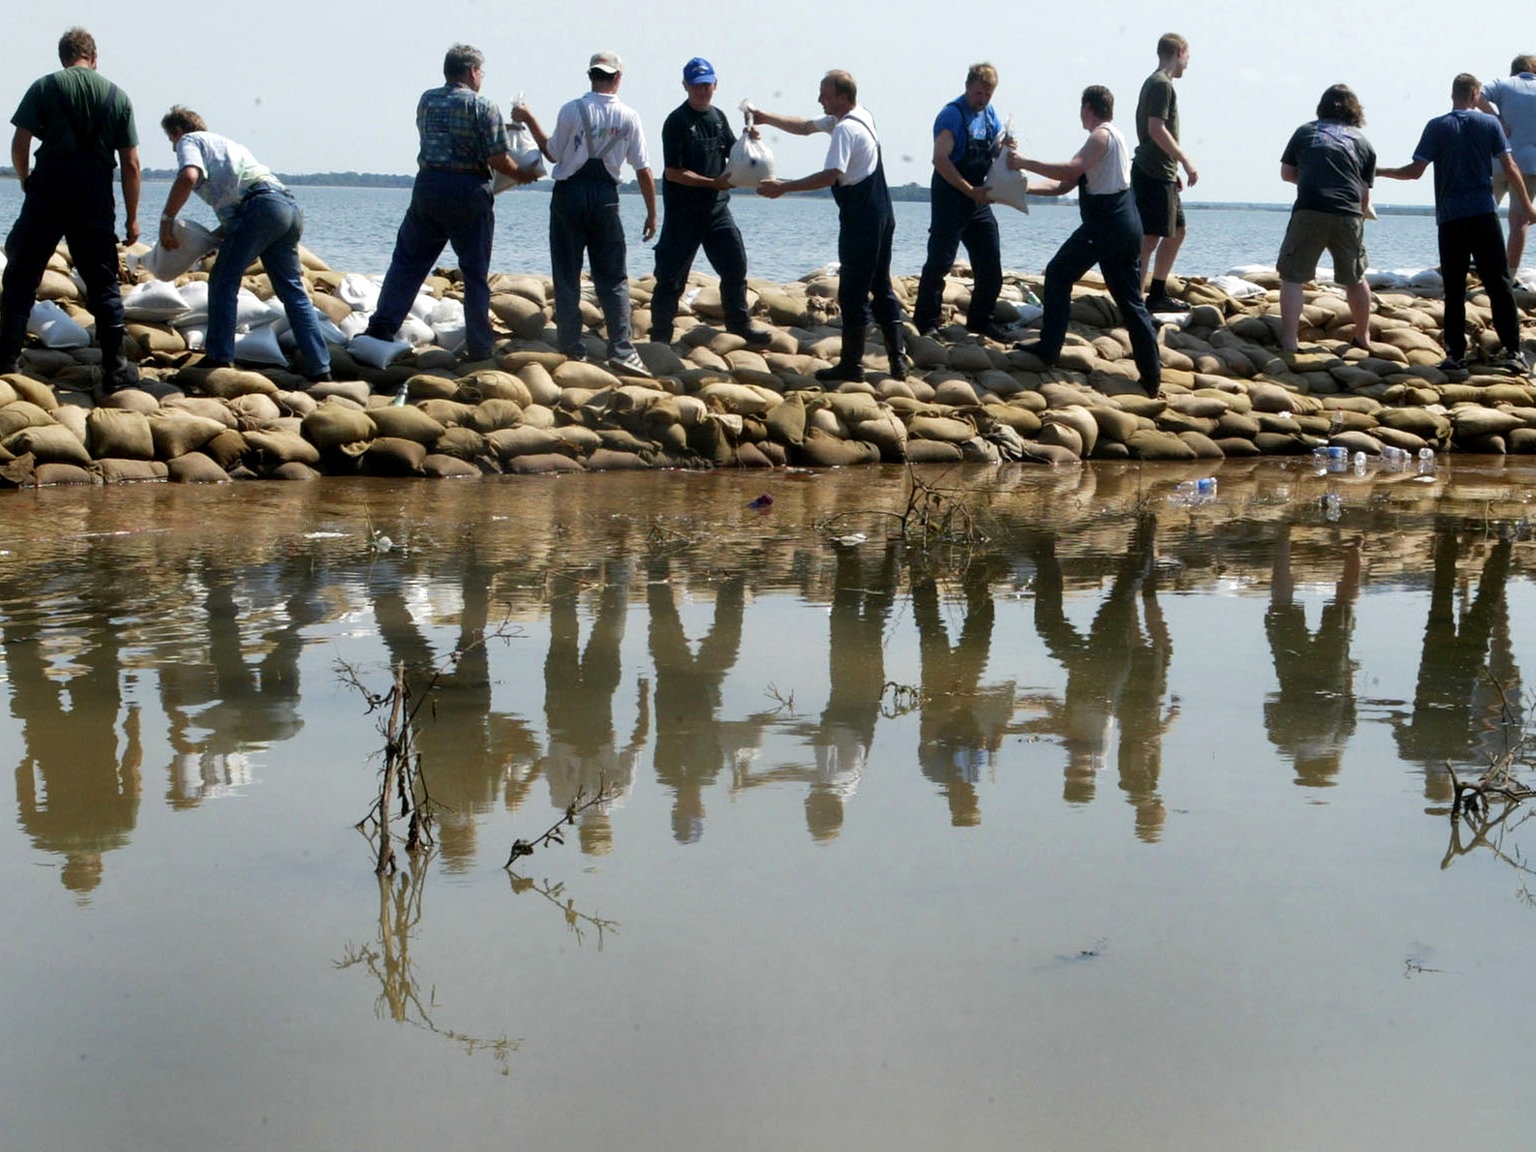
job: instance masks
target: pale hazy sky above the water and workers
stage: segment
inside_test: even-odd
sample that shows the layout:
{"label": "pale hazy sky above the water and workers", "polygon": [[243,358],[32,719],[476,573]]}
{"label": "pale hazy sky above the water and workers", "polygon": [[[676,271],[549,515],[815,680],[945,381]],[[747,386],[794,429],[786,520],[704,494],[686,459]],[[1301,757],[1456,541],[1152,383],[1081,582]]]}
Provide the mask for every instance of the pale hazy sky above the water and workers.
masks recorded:
{"label": "pale hazy sky above the water and workers", "polygon": [[[1001,74],[995,106],[1014,117],[1025,151],[1064,160],[1081,143],[1077,109],[1086,84],[1115,92],[1117,120],[1132,134],[1157,38],[1175,31],[1192,54],[1178,81],[1183,138],[1200,170],[1189,198],[1278,203],[1292,198],[1279,183],[1279,152],[1329,84],[1344,81],[1359,94],[1381,163],[1402,164],[1424,121],[1450,108],[1456,72],[1490,80],[1507,74],[1516,52],[1536,52],[1530,0],[1468,9],[1418,0],[1198,9],[1017,0],[971,12],[915,0],[9,0],[9,8],[0,37],[6,117],[34,78],[57,68],[58,34],[83,25],[97,37],[103,75],[134,98],[151,167],[172,164],[158,121],[172,103],[184,103],[283,172],[412,172],[416,98],[441,83],[444,49],[462,40],[485,52],[484,94],[505,111],[525,92],[545,127],[561,103],[585,89],[591,52],[616,49],[625,61],[621,95],[645,121],[657,170],[660,124],[682,100],[688,57],[714,63],[722,108],[734,111],[750,97],[797,115],[816,115],[822,74],[846,68],[879,123],[888,175],[899,184],[928,181],[932,118],[960,92],[972,61],[991,60]],[[1146,15],[1154,8],[1160,14]],[[823,137],[768,138],[782,175],[820,167]],[[1430,200],[1428,178],[1378,187],[1382,204]]]}

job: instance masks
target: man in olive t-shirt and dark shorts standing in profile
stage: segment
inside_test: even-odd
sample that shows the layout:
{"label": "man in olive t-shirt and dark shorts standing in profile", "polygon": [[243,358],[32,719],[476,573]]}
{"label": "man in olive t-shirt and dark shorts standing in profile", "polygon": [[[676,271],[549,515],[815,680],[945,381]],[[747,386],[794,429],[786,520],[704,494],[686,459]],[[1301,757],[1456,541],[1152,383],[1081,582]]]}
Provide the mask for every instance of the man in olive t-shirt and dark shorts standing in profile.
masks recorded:
{"label": "man in olive t-shirt and dark shorts standing in profile", "polygon": [[1189,312],[1189,304],[1167,295],[1174,258],[1184,243],[1184,206],[1178,169],[1189,186],[1200,180],[1195,163],[1178,143],[1178,94],[1174,81],[1189,68],[1189,43],[1177,32],[1157,41],[1157,71],[1141,84],[1137,100],[1137,154],[1130,187],[1141,214],[1141,287],[1149,312]]}

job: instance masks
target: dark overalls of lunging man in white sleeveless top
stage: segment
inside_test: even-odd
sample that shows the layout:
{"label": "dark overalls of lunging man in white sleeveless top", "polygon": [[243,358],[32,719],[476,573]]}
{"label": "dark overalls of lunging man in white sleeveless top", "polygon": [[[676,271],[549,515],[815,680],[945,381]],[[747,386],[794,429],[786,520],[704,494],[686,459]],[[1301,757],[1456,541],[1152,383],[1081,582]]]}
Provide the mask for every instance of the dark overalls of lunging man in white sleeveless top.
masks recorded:
{"label": "dark overalls of lunging man in white sleeveless top", "polygon": [[[1084,201],[1103,201],[1095,209]],[[1130,355],[1141,373],[1141,387],[1155,395],[1163,386],[1163,358],[1157,347],[1157,327],[1141,298],[1141,218],[1129,192],[1078,198],[1083,224],[1066,238],[1046,264],[1044,315],[1040,318],[1040,356],[1054,362],[1066,343],[1072,315],[1072,286],[1094,264],[1104,275],[1104,286],[1120,309],[1130,335]]]}

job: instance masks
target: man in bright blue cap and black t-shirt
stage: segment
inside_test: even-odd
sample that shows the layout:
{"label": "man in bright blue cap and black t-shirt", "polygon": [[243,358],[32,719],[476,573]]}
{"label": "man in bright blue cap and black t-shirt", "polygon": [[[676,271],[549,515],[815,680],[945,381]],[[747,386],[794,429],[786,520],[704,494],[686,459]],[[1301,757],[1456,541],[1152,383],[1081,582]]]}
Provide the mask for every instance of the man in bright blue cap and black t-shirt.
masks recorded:
{"label": "man in bright blue cap and black t-shirt", "polygon": [[688,98],[662,124],[662,235],[656,241],[656,292],[651,295],[651,339],[671,344],[677,300],[688,286],[693,258],[703,246],[720,273],[725,330],[762,347],[773,333],[753,327],[746,309],[746,246],[731,217],[727,161],[736,134],[714,106],[716,75],[708,60],[694,57],[682,69]]}

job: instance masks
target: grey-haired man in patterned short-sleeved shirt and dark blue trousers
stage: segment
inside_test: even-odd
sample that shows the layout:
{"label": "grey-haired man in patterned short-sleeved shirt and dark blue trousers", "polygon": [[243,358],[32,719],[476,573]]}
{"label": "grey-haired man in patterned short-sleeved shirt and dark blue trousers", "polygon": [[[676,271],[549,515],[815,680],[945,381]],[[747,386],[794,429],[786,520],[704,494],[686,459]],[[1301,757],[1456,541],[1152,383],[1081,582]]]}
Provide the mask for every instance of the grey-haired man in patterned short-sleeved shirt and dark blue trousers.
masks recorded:
{"label": "grey-haired man in patterned short-sleeved shirt and dark blue trousers", "polygon": [[393,339],[444,244],[453,244],[464,278],[464,327],[468,359],[492,353],[490,240],[496,227],[492,170],[527,184],[533,175],[507,155],[501,111],[479,95],[485,57],[455,45],[442,58],[442,88],[416,101],[416,183],[395,237],[395,255],[367,335]]}

